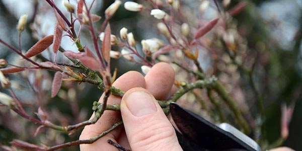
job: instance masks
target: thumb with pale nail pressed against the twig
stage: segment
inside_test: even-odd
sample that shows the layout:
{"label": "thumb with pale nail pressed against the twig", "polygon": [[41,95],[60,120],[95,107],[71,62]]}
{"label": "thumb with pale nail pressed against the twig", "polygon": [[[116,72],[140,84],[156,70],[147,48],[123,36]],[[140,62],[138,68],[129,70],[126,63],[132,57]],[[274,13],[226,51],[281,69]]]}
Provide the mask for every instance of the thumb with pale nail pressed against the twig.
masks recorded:
{"label": "thumb with pale nail pressed against the twig", "polygon": [[173,126],[147,90],[127,91],[122,98],[121,114],[133,151],[182,150]]}

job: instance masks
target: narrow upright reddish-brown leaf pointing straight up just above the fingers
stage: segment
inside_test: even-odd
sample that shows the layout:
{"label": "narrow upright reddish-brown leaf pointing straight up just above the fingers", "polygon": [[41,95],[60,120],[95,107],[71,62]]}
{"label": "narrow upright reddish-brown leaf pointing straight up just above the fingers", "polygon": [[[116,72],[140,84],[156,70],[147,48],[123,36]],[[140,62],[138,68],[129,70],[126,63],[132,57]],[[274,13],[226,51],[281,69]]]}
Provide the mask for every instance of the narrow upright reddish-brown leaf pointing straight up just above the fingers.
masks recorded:
{"label": "narrow upright reddish-brown leaf pointing straight up just above the fingers", "polygon": [[108,23],[108,25],[105,29],[104,41],[102,44],[102,54],[103,54],[104,59],[108,63],[110,61],[110,50],[111,50],[110,36],[111,36],[111,29],[110,29],[110,24]]}

